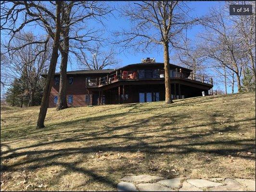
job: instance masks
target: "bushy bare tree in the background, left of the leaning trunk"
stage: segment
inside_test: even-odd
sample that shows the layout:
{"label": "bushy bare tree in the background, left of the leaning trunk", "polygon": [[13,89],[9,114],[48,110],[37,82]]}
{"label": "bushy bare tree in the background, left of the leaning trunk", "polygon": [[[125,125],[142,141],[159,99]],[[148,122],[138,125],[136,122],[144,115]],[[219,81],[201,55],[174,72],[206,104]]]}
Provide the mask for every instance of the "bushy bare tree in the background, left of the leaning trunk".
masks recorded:
{"label": "bushy bare tree in the background, left of the leaning trunk", "polygon": [[[12,55],[12,60],[5,63],[5,70],[12,78],[20,78],[26,87],[26,93],[29,98],[28,107],[34,106],[34,95],[38,86],[40,74],[45,71],[49,66],[50,54],[47,44],[46,51],[42,44],[36,44],[37,38],[31,32],[18,33],[10,44],[13,51],[9,54]],[[31,43],[31,44],[30,44]],[[15,50],[17,47],[26,47]],[[35,55],[40,54],[35,58]],[[35,58],[35,59],[34,59]]]}

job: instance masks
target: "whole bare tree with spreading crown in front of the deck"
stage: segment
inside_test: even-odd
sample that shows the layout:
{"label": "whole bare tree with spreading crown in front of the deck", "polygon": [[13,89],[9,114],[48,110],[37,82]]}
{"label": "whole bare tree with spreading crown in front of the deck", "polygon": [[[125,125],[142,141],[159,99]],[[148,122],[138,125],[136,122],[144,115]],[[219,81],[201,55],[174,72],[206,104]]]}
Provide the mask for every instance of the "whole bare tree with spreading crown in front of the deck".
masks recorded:
{"label": "whole bare tree with spreading crown in front of the deck", "polygon": [[123,9],[123,15],[132,22],[129,30],[117,32],[121,37],[118,43],[124,48],[132,47],[149,50],[150,46],[162,45],[164,48],[166,104],[172,103],[169,74],[169,46],[179,48],[179,36],[195,20],[189,18],[189,8],[178,1],[134,2]]}

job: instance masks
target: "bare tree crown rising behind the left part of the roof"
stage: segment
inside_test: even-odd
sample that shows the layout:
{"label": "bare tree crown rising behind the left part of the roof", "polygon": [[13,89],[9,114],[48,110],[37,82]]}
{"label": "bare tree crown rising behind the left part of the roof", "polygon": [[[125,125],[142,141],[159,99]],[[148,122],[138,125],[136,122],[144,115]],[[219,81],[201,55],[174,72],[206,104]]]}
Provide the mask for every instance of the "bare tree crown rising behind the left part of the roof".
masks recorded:
{"label": "bare tree crown rising behind the left part of the roof", "polygon": [[118,60],[115,58],[116,52],[114,48],[103,51],[101,50],[101,45],[97,44],[89,50],[89,53],[89,56],[83,51],[77,54],[78,64],[81,69],[100,70],[118,64]]}

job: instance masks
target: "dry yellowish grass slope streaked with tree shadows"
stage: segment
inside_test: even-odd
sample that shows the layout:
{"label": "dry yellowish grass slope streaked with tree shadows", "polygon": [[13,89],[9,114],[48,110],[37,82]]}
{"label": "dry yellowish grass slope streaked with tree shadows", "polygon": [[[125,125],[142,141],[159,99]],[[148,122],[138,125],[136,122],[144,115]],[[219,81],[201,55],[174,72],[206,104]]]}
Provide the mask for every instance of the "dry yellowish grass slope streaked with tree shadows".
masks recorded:
{"label": "dry yellowish grass slope streaked with tree shadows", "polygon": [[1,190],[115,191],[127,175],[255,179],[255,93],[48,109],[1,106]]}

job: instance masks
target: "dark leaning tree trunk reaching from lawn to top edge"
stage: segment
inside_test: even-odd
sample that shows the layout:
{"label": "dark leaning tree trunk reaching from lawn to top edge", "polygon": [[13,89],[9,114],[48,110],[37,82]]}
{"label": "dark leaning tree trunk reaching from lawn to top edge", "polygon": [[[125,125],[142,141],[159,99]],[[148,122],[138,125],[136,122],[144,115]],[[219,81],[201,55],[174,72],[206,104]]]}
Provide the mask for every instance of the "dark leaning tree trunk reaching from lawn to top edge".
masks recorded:
{"label": "dark leaning tree trunk reaching from lawn to top edge", "polygon": [[51,82],[53,81],[56,63],[58,59],[58,47],[59,47],[60,32],[61,32],[61,23],[60,23],[61,8],[62,8],[62,1],[56,1],[56,30],[55,30],[54,42],[52,46],[50,67],[49,67],[46,84],[44,87],[43,97],[41,101],[41,107],[38,115],[37,128],[44,127],[44,120],[47,113],[47,108],[49,106],[49,97],[50,97],[51,86],[52,86]]}

